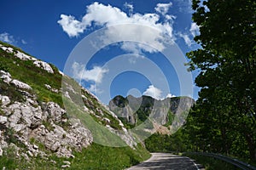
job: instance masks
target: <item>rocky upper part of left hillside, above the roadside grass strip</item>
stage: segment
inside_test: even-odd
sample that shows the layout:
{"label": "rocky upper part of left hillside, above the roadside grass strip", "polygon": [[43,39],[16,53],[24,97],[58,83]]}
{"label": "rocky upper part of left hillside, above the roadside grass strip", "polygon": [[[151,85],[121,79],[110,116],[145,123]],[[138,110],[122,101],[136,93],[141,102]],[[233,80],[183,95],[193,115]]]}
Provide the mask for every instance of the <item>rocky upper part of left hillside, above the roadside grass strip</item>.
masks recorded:
{"label": "rocky upper part of left hillside, above the roadside grass strip", "polygon": [[[135,149],[135,139],[118,117],[54,65],[3,42],[0,60],[0,158],[10,149],[26,161],[74,158],[74,151],[104,142],[105,134]],[[110,146],[115,142],[105,140]]]}

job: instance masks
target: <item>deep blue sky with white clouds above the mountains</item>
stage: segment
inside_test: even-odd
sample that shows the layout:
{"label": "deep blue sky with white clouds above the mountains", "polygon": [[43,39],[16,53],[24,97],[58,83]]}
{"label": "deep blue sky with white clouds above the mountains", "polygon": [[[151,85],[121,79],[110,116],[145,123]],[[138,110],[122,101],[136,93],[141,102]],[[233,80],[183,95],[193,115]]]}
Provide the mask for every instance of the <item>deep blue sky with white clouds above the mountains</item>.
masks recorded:
{"label": "deep blue sky with white clouds above the mountains", "polygon": [[[180,80],[181,72],[177,72],[176,66],[162,54],[166,48],[166,43],[162,42],[167,37],[181,49],[183,58],[185,53],[199,48],[193,41],[199,31],[191,20],[190,5],[190,0],[1,0],[0,40],[66,71],[106,104],[117,94],[146,94],[157,99],[167,95],[190,95],[196,99],[198,88],[188,82],[187,86],[193,86],[194,93],[189,94],[186,90],[182,93],[182,88],[186,87],[180,83],[187,82]],[[142,26],[134,32],[132,26],[113,27],[116,32],[110,35],[111,31],[107,29],[103,36],[108,36],[112,42],[119,33],[121,39],[131,37],[138,42],[106,42],[107,46],[98,49],[90,59],[84,59],[89,58],[84,56],[88,47],[81,52],[84,54],[82,59],[72,56],[74,50],[79,50],[77,44],[84,37],[101,28],[127,23]],[[150,30],[148,33],[142,31],[143,26],[157,29],[164,36],[157,37],[157,32],[151,32],[151,35]],[[138,37],[141,39],[136,39]],[[173,55],[177,58],[178,54]],[[68,59],[70,63],[67,63]],[[192,74],[193,79],[195,76],[196,72]]]}

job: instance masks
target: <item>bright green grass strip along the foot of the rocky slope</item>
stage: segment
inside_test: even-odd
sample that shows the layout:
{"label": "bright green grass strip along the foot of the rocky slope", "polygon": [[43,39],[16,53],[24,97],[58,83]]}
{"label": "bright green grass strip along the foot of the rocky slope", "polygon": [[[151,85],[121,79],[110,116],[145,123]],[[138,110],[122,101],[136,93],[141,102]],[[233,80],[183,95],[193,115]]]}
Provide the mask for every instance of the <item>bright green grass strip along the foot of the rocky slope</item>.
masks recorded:
{"label": "bright green grass strip along the foot of the rocky slope", "polygon": [[[125,169],[150,157],[147,150],[141,144],[138,144],[136,150],[130,147],[113,148],[102,146],[100,144],[91,144],[81,152],[74,152],[75,158],[63,158],[49,156],[48,159],[41,157],[32,157],[31,161],[26,161],[22,156],[15,158],[15,150],[9,148],[4,150],[5,156],[0,157],[0,169],[61,169],[63,161],[70,161],[71,167],[67,169]],[[56,163],[53,163],[55,161]]]}

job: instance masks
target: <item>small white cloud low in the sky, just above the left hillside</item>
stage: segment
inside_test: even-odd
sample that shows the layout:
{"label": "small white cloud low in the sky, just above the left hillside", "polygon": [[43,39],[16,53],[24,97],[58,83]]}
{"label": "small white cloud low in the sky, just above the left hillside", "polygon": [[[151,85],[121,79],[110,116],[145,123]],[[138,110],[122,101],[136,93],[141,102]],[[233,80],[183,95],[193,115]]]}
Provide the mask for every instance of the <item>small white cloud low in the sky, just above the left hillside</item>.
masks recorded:
{"label": "small white cloud low in the sky, just above the left hillside", "polygon": [[96,83],[101,83],[104,74],[108,72],[107,69],[103,69],[100,66],[94,66],[91,70],[85,70],[85,65],[77,62],[73,63],[72,69],[74,78]]}

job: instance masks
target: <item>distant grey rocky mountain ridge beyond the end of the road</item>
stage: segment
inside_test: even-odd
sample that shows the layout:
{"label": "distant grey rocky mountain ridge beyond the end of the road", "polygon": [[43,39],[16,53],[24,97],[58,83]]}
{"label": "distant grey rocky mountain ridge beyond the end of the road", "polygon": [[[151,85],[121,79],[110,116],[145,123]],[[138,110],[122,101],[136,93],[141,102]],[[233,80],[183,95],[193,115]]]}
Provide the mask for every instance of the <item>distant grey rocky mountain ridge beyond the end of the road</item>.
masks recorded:
{"label": "distant grey rocky mountain ridge beyond the end of the road", "polygon": [[185,122],[187,113],[194,103],[195,100],[189,97],[158,100],[150,96],[135,98],[128,95],[125,98],[118,95],[109,102],[108,107],[128,127],[136,127],[149,120],[154,127],[151,128],[152,133],[155,130],[170,133]]}

